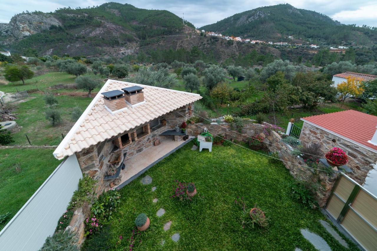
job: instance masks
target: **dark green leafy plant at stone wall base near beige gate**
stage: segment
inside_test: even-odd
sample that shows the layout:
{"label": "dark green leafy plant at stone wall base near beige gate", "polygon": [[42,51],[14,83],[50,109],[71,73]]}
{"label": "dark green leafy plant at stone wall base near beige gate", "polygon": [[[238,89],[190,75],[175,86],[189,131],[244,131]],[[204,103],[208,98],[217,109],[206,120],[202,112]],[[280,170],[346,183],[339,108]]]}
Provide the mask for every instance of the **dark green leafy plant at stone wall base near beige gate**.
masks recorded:
{"label": "dark green leafy plant at stone wall base near beige gate", "polygon": [[316,208],[318,202],[315,199],[317,188],[305,181],[296,181],[290,184],[294,199],[299,200],[305,206]]}

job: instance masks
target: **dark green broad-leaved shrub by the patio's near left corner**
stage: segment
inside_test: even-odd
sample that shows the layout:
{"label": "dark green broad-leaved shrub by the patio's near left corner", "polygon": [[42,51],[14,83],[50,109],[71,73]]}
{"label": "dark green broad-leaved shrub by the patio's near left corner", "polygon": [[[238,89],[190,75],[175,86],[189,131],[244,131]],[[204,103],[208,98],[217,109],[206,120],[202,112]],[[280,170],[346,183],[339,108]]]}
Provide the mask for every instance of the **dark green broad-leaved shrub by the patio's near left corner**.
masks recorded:
{"label": "dark green broad-leaved shrub by the patio's near left corner", "polygon": [[95,216],[110,220],[119,203],[120,193],[116,190],[109,190],[98,197],[98,200],[94,202],[90,210]]}

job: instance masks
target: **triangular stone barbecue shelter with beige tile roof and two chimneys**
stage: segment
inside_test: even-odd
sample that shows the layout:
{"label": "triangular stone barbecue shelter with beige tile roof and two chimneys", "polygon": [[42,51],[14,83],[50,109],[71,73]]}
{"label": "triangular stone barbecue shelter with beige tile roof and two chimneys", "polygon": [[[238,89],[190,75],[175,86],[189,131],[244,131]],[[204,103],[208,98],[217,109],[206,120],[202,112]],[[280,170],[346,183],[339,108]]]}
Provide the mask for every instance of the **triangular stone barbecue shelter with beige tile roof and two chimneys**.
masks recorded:
{"label": "triangular stone barbecue shelter with beige tile roof and two chimneys", "polygon": [[[195,93],[107,80],[54,156],[75,155],[83,174],[98,180],[101,193],[121,175],[120,168],[132,170],[127,160],[154,145],[164,147],[164,139],[174,135],[169,132],[191,116],[193,103],[201,98]],[[184,135],[173,137],[181,141]],[[113,158],[123,161],[111,167]],[[116,173],[109,175],[109,168],[116,168]]]}

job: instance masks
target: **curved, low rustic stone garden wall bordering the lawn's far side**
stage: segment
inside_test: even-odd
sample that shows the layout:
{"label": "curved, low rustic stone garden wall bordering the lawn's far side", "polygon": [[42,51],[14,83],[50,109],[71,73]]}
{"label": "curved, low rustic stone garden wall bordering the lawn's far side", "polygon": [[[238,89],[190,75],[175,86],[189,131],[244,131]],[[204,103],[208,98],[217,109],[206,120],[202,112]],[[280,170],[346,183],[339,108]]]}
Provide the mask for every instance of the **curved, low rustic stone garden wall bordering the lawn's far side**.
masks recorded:
{"label": "curved, low rustic stone garden wall bordering the lawn's far side", "polygon": [[[228,123],[222,123],[220,125],[216,123],[199,123],[198,125],[201,127],[206,127],[208,132],[212,134],[225,136],[225,138],[230,141],[248,141],[249,138],[247,136],[252,137],[254,135],[259,135],[263,133],[264,129],[264,125],[256,124],[251,120],[247,122],[242,129],[242,134],[247,135],[243,136],[239,133],[230,131],[229,129],[231,127]],[[204,129],[199,126],[189,124],[187,127],[187,133],[193,136],[203,133]],[[266,137],[265,146],[270,152],[278,152],[279,158],[283,160],[283,164],[295,179],[307,181],[312,184],[320,184],[316,199],[319,202],[320,207],[324,207],[339,173],[333,174],[329,177],[323,171],[308,168],[307,164],[305,164],[302,158],[298,158],[297,156],[291,154],[293,148],[281,141],[282,138],[276,132],[272,132],[271,135],[263,136]]]}

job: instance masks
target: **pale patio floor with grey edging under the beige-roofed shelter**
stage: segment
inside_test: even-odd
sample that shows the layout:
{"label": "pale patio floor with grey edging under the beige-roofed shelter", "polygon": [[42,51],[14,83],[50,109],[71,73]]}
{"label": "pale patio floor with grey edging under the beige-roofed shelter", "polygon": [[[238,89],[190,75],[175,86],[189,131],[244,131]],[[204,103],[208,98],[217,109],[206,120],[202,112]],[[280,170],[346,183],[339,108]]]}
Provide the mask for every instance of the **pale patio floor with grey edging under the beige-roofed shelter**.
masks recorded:
{"label": "pale patio floor with grey edging under the beige-roofed shelter", "polygon": [[166,158],[185,144],[195,139],[190,137],[186,141],[174,141],[172,137],[166,137],[161,141],[161,144],[147,148],[141,153],[127,159],[124,164],[126,168],[121,171],[121,182],[114,188],[122,188],[143,174],[149,168],[153,167],[156,163]]}

